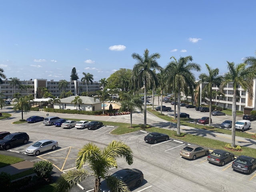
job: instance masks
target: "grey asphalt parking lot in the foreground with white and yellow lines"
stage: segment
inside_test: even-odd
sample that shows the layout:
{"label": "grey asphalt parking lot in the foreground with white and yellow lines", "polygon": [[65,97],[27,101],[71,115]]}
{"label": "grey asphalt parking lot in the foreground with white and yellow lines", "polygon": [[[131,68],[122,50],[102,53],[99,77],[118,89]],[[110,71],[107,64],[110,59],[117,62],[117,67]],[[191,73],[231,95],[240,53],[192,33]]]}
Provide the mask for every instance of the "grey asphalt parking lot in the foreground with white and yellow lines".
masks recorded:
{"label": "grey asphalt parking lot in the foreground with white and yellow lines", "polygon": [[[186,110],[185,108],[183,109]],[[191,111],[188,112],[190,115],[204,114],[195,112],[194,109],[187,110]],[[32,113],[38,112],[29,112],[26,116],[30,116]],[[231,168],[232,162],[224,166],[216,166],[208,163],[206,156],[197,158],[196,160],[181,158],[179,154],[180,150],[190,143],[170,138],[166,142],[148,144],[144,142],[144,136],[148,132],[136,131],[115,136],[109,134],[114,127],[108,126],[103,126],[98,130],[77,130],[75,128],[63,129],[55,126],[45,126],[42,122],[34,124],[11,124],[11,122],[15,121],[14,118],[16,115],[19,114],[14,114],[12,118],[2,121],[3,126],[0,127],[0,130],[27,132],[30,136],[30,142],[26,145],[12,148],[10,151],[5,152],[5,154],[15,155],[18,152],[20,156],[28,158],[31,161],[48,160],[54,164],[54,167],[59,172],[65,172],[75,167],[78,150],[84,144],[94,142],[100,148],[104,148],[112,140],[122,140],[132,148],[134,163],[129,166],[124,159],[120,158],[118,159],[118,169],[113,168],[109,172],[113,173],[122,168],[137,168],[141,170],[144,173],[144,182],[139,188],[134,189],[134,192],[226,192],[252,191],[255,188],[255,171],[252,174],[235,172]],[[222,118],[222,116],[216,118]],[[39,156],[27,156],[24,154],[28,146],[42,139],[57,140],[59,147],[54,151],[50,150]],[[80,186],[85,191],[92,190],[94,186],[93,178],[89,178],[89,182],[88,180],[82,182]],[[82,188],[75,187],[72,191],[82,191]]]}

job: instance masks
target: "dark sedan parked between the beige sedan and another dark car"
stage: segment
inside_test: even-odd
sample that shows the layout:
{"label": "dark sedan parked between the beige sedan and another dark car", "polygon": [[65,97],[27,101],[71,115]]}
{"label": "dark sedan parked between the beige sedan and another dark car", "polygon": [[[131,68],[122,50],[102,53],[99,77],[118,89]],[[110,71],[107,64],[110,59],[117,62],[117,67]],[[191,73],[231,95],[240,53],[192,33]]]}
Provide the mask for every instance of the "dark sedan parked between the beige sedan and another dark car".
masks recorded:
{"label": "dark sedan parked between the beige sedan and another dark car", "polygon": [[233,161],[235,155],[224,150],[216,149],[207,156],[207,160],[213,164],[224,166],[225,163]]}

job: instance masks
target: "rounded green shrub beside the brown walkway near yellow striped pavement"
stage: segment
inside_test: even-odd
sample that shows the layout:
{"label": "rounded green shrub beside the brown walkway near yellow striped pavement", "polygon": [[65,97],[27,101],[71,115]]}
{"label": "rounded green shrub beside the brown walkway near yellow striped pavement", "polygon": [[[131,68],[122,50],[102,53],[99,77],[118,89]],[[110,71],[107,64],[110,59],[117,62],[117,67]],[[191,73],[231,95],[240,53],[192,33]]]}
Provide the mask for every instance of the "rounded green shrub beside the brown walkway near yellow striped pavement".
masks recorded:
{"label": "rounded green shrub beside the brown walkway near yellow striped pavement", "polygon": [[52,169],[52,163],[48,161],[39,161],[33,166],[33,170],[36,172],[38,178],[48,178],[52,172]]}

